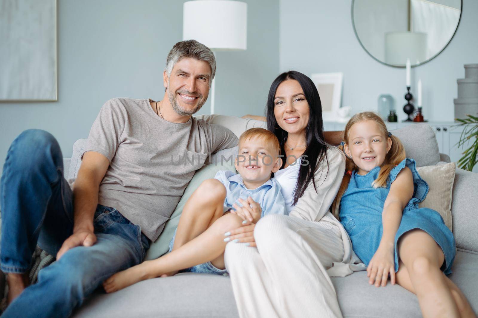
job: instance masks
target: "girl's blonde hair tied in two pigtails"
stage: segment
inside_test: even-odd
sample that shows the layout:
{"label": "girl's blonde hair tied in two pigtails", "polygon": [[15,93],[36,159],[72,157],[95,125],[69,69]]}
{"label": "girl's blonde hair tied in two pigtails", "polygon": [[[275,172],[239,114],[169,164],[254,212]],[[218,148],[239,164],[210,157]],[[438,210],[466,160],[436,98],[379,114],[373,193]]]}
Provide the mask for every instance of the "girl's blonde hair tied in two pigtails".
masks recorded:
{"label": "girl's blonde hair tied in two pigtails", "polygon": [[[344,130],[344,143],[348,143],[348,137],[350,133],[350,129],[356,123],[359,123],[364,120],[373,120],[379,125],[379,128],[385,138],[388,137],[388,129],[383,120],[380,118],[379,115],[373,112],[363,112],[355,114],[350,120],[348,121],[347,125],[345,126]],[[395,137],[394,135],[390,136],[391,138],[391,148],[388,154],[385,156],[385,161],[383,162],[380,173],[377,179],[375,179],[372,183],[374,188],[384,187],[387,185],[388,176],[390,174],[391,169],[399,164],[400,162],[405,159],[405,148],[403,147],[402,142],[400,139]],[[343,151],[344,146],[340,145],[338,147],[340,150]],[[347,190],[348,183],[350,182],[351,172],[357,170],[357,166],[354,164],[351,158],[346,156],[345,159],[345,174],[344,178],[342,179],[342,184],[338,190],[337,196],[335,197],[334,202],[332,203],[332,214],[338,219],[339,212],[340,212],[340,200],[342,199],[342,195],[344,195],[345,190]],[[350,173],[348,173],[350,171]]]}

